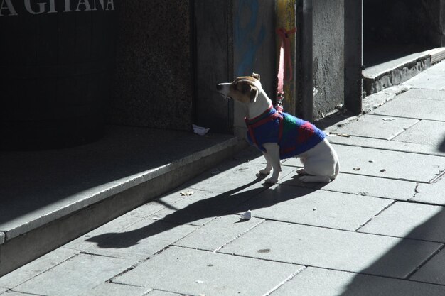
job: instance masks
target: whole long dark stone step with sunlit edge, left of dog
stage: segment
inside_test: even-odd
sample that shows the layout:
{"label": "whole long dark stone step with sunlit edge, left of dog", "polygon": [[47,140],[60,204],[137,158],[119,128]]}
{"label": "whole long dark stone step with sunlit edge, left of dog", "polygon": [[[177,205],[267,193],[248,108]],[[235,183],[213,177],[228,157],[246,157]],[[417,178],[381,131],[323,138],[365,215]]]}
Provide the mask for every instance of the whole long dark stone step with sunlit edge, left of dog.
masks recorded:
{"label": "whole long dark stone step with sunlit edge, left of dog", "polygon": [[172,190],[243,146],[235,136],[110,126],[63,150],[0,152],[0,276]]}

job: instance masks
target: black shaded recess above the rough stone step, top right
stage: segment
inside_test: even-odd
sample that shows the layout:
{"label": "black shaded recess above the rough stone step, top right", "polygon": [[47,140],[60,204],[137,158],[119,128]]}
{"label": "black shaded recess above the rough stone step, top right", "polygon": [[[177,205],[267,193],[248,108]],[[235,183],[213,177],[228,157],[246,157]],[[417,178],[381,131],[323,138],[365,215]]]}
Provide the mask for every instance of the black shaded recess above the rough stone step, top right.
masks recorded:
{"label": "black shaded recess above the rough stone step, top right", "polygon": [[441,46],[440,0],[364,0],[363,65]]}

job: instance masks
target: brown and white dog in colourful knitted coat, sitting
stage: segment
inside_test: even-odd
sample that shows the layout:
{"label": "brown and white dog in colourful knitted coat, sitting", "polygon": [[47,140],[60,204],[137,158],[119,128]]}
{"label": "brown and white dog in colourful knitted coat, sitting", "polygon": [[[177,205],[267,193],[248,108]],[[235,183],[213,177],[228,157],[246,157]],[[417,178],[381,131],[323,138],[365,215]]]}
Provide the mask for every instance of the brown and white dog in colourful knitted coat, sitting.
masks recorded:
{"label": "brown and white dog in colourful knitted coat, sitting", "polygon": [[217,90],[247,107],[247,140],[262,151],[266,168],[257,173],[272,176],[265,182],[275,184],[281,172],[280,159],[296,157],[304,168],[297,170],[302,182],[328,183],[338,175],[338,155],[320,129],[308,121],[279,112],[262,89],[259,75],[237,77],[220,83]]}

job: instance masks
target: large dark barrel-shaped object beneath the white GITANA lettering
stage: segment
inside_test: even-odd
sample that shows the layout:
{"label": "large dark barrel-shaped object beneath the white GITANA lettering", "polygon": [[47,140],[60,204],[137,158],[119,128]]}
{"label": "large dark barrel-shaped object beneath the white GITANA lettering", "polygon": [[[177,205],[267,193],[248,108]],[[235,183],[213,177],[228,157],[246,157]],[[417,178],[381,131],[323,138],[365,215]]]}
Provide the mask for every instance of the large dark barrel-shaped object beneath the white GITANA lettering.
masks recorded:
{"label": "large dark barrel-shaped object beneath the white GITANA lettering", "polygon": [[55,1],[51,13],[46,4],[33,6],[36,16],[19,3],[15,16],[3,5],[0,13],[0,149],[94,141],[109,100],[116,11]]}

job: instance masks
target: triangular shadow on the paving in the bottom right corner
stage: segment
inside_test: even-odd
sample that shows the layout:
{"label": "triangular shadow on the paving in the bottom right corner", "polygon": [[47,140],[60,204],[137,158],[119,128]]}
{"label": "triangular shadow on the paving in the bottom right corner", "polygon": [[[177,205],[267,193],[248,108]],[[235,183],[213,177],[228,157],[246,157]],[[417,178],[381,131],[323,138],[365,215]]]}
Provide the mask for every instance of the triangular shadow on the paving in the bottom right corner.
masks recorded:
{"label": "triangular shadow on the paving in the bottom right corner", "polygon": [[[415,217],[413,216],[412,219],[415,219]],[[445,285],[445,275],[443,273],[444,221],[445,211],[441,210],[428,221],[416,226],[384,256],[368,268],[361,270],[360,274],[355,275],[352,280],[349,279],[349,283],[342,283],[344,292],[338,295],[445,295],[445,286],[443,286]],[[388,270],[393,274],[399,273],[401,276],[395,278],[400,278],[400,280],[369,276],[387,273]],[[422,285],[416,282],[436,285]]]}

